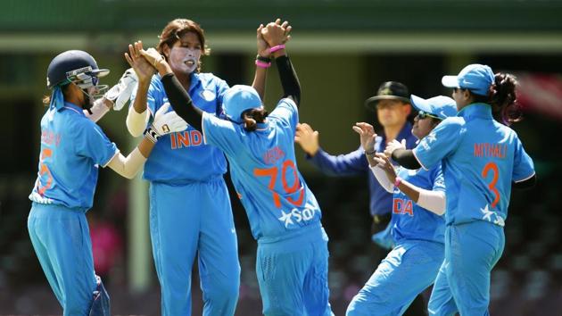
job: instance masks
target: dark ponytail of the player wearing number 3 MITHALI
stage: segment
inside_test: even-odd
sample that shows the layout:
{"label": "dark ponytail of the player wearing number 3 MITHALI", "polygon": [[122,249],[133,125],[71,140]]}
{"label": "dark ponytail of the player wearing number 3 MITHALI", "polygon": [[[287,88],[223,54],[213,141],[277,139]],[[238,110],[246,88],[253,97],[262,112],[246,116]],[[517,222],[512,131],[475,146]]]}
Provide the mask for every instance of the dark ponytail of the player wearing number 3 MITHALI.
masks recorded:
{"label": "dark ponytail of the player wearing number 3 MITHALI", "polygon": [[517,79],[509,73],[498,72],[494,83],[490,87],[489,104],[492,105],[492,113],[496,121],[505,125],[511,125],[521,121],[521,111],[517,104]]}

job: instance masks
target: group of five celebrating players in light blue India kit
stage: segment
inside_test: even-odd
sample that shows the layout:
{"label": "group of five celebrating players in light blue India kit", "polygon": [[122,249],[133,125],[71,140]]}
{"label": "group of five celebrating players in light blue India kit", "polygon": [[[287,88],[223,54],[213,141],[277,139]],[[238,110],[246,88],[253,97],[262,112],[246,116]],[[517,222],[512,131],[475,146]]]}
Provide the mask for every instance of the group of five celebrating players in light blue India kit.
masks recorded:
{"label": "group of five celebrating players in light blue India kit", "polygon": [[[90,54],[73,50],[54,57],[28,229],[64,315],[111,314],[109,295],[95,275],[86,220],[98,166],[128,179],[143,169],[150,183],[162,315],[191,314],[195,257],[203,314],[234,315],[240,264],[223,178],[227,162],[258,242],[263,314],[334,314],[322,212],[295,159],[295,142],[318,152],[318,132],[299,120],[301,84],[285,46],[291,30],[279,19],[256,30],[252,86],[229,87],[202,72],[209,49],[202,28],[186,19],[170,21],[154,48],[129,45],[125,59],[132,70],[107,91],[99,79],[109,71]],[[283,96],[269,112],[262,100],[272,62]],[[379,117],[409,113],[402,104],[418,113],[408,125],[408,142],[398,133],[379,137],[368,123],[353,126],[360,136],[353,159],[371,173],[373,185],[392,195],[385,231],[393,249],[346,315],[401,315],[431,285],[429,314],[486,315],[511,187],[535,182],[533,161],[508,127],[517,121],[517,81],[471,64],[458,76],[443,77],[452,98],[396,96],[400,84],[387,84],[369,99]],[[95,122],[129,100],[128,131],[143,138],[125,156]]]}

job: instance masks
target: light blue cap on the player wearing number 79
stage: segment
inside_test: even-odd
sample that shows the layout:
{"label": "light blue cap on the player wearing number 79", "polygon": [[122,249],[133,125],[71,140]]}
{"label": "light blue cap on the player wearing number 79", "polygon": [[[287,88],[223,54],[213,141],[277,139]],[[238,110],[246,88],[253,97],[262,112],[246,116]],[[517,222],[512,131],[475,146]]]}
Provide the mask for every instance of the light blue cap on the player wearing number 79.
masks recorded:
{"label": "light blue cap on the player wearing number 79", "polygon": [[227,90],[222,107],[228,120],[242,123],[242,113],[262,107],[260,95],[250,86],[236,85]]}

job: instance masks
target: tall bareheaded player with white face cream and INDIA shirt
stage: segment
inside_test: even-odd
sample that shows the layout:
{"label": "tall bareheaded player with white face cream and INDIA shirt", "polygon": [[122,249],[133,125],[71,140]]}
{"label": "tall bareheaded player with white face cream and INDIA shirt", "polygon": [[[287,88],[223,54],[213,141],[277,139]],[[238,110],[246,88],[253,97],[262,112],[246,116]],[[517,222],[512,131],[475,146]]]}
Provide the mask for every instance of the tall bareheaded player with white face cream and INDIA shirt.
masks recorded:
{"label": "tall bareheaded player with white face cream and INDIA shirt", "polygon": [[[260,31],[258,29],[258,32]],[[269,56],[267,44],[258,39],[258,54]],[[285,37],[285,40],[287,38]],[[136,45],[142,46],[138,42]],[[134,47],[130,46],[131,52]],[[201,56],[209,54],[199,24],[191,20],[170,21],[162,30],[157,50],[169,63],[176,79],[203,112],[220,115],[227,82],[212,73],[202,73]],[[136,71],[154,71],[144,58]],[[263,91],[266,70],[257,68],[253,87]],[[139,135],[149,112],[168,104],[161,77],[140,81],[127,117],[128,130]],[[240,263],[236,229],[223,174],[224,154],[203,142],[201,130],[186,130],[163,137],[145,164],[150,181],[150,231],[153,258],[161,284],[163,315],[191,314],[191,275],[194,258],[199,261],[203,315],[234,315],[240,287]]]}

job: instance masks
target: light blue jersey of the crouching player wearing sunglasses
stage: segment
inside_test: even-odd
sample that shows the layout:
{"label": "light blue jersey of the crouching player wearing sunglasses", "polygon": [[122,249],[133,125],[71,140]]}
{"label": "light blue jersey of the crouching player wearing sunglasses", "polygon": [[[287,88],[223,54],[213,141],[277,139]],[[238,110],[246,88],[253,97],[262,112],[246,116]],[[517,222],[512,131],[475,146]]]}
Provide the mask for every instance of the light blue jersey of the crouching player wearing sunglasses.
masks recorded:
{"label": "light blue jersey of the crouching player wearing sunglasses", "polygon": [[[435,165],[431,170],[399,168],[397,173],[398,177],[416,187],[445,191],[441,164]],[[394,245],[400,244],[401,240],[426,240],[440,244],[445,242],[444,218],[417,205],[397,188],[394,188],[391,222]]]}

